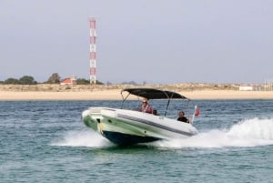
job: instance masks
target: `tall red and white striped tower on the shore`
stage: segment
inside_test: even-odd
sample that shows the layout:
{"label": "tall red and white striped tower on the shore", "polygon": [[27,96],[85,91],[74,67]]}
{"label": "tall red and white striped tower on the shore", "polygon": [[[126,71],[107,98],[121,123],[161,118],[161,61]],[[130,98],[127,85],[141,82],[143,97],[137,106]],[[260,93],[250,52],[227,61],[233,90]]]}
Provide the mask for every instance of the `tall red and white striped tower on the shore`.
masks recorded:
{"label": "tall red and white striped tower on the shore", "polygon": [[90,84],[96,84],[96,19],[89,18],[90,23]]}

